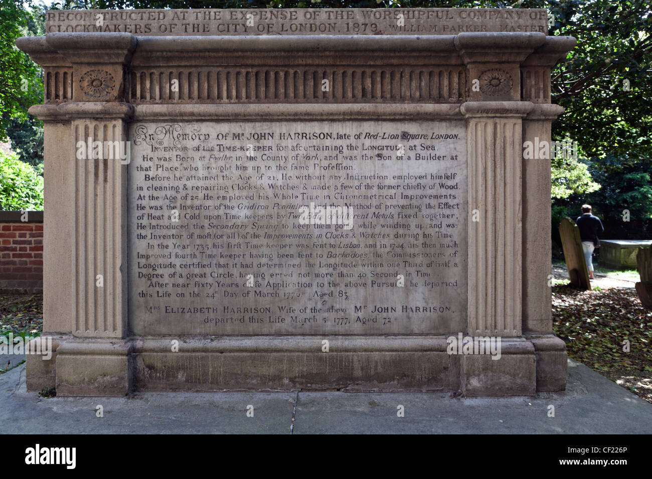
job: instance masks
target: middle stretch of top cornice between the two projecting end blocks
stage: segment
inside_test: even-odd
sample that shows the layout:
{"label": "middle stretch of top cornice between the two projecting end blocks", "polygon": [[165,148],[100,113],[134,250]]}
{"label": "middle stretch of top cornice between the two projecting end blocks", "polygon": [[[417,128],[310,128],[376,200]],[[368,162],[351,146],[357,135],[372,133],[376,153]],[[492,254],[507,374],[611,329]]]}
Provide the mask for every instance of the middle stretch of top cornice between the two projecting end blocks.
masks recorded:
{"label": "middle stretch of top cornice between the two projecting end blocks", "polygon": [[462,65],[454,36],[141,36],[134,66]]}

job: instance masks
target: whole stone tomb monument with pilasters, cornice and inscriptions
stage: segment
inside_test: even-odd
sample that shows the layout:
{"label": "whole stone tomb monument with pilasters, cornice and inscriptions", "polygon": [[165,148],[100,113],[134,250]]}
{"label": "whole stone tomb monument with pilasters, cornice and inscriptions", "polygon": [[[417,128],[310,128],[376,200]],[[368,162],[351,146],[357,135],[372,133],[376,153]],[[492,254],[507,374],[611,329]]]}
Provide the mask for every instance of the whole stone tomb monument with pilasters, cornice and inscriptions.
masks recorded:
{"label": "whole stone tomb monument with pilasters, cornice and inscriptions", "polygon": [[45,70],[56,347],[28,388],[563,390],[550,160],[522,154],[575,44],[546,20],[48,12],[17,41]]}

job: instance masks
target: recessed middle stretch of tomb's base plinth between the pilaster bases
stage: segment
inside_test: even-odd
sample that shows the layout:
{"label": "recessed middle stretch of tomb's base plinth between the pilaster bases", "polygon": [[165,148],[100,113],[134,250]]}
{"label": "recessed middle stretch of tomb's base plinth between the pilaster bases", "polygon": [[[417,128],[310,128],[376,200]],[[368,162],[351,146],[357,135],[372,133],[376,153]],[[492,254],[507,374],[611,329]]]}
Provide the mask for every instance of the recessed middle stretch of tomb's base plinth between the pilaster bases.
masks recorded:
{"label": "recessed middle stretch of tomb's base plinth between the pilaster bases", "polygon": [[[460,389],[443,336],[230,336],[136,341],[138,390]],[[397,372],[398,371],[398,372]]]}

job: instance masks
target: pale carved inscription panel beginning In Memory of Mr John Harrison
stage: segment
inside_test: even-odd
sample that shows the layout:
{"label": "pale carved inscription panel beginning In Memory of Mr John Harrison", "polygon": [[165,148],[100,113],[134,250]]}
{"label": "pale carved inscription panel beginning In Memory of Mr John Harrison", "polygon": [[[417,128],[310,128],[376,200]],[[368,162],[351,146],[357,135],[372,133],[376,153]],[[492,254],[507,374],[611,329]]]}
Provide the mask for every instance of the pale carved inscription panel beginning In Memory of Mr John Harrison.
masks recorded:
{"label": "pale carved inscription panel beginning In Memory of Mr John Harrison", "polygon": [[135,123],[136,334],[466,328],[462,121]]}

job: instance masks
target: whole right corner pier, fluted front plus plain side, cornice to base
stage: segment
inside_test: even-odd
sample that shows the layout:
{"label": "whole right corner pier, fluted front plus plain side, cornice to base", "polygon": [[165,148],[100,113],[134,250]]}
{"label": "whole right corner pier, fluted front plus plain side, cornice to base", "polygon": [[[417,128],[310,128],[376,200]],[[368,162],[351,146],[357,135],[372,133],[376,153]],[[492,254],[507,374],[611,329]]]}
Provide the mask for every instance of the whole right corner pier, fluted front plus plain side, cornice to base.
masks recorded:
{"label": "whole right corner pier, fluted front plus plain side, cornice to base", "polygon": [[[496,394],[483,384],[531,394],[531,384],[503,377],[512,370],[535,378],[537,390],[565,385],[565,345],[552,334],[550,259],[541,253],[550,251],[541,227],[550,218],[550,161],[524,162],[522,152],[535,136],[550,141],[550,123],[561,111],[550,105],[550,68],[573,44],[539,33],[455,38],[470,89],[461,106],[468,141],[468,328],[471,336],[501,336],[505,354],[497,362],[507,363],[465,357],[467,394]],[[538,334],[524,337],[528,330]]]}

